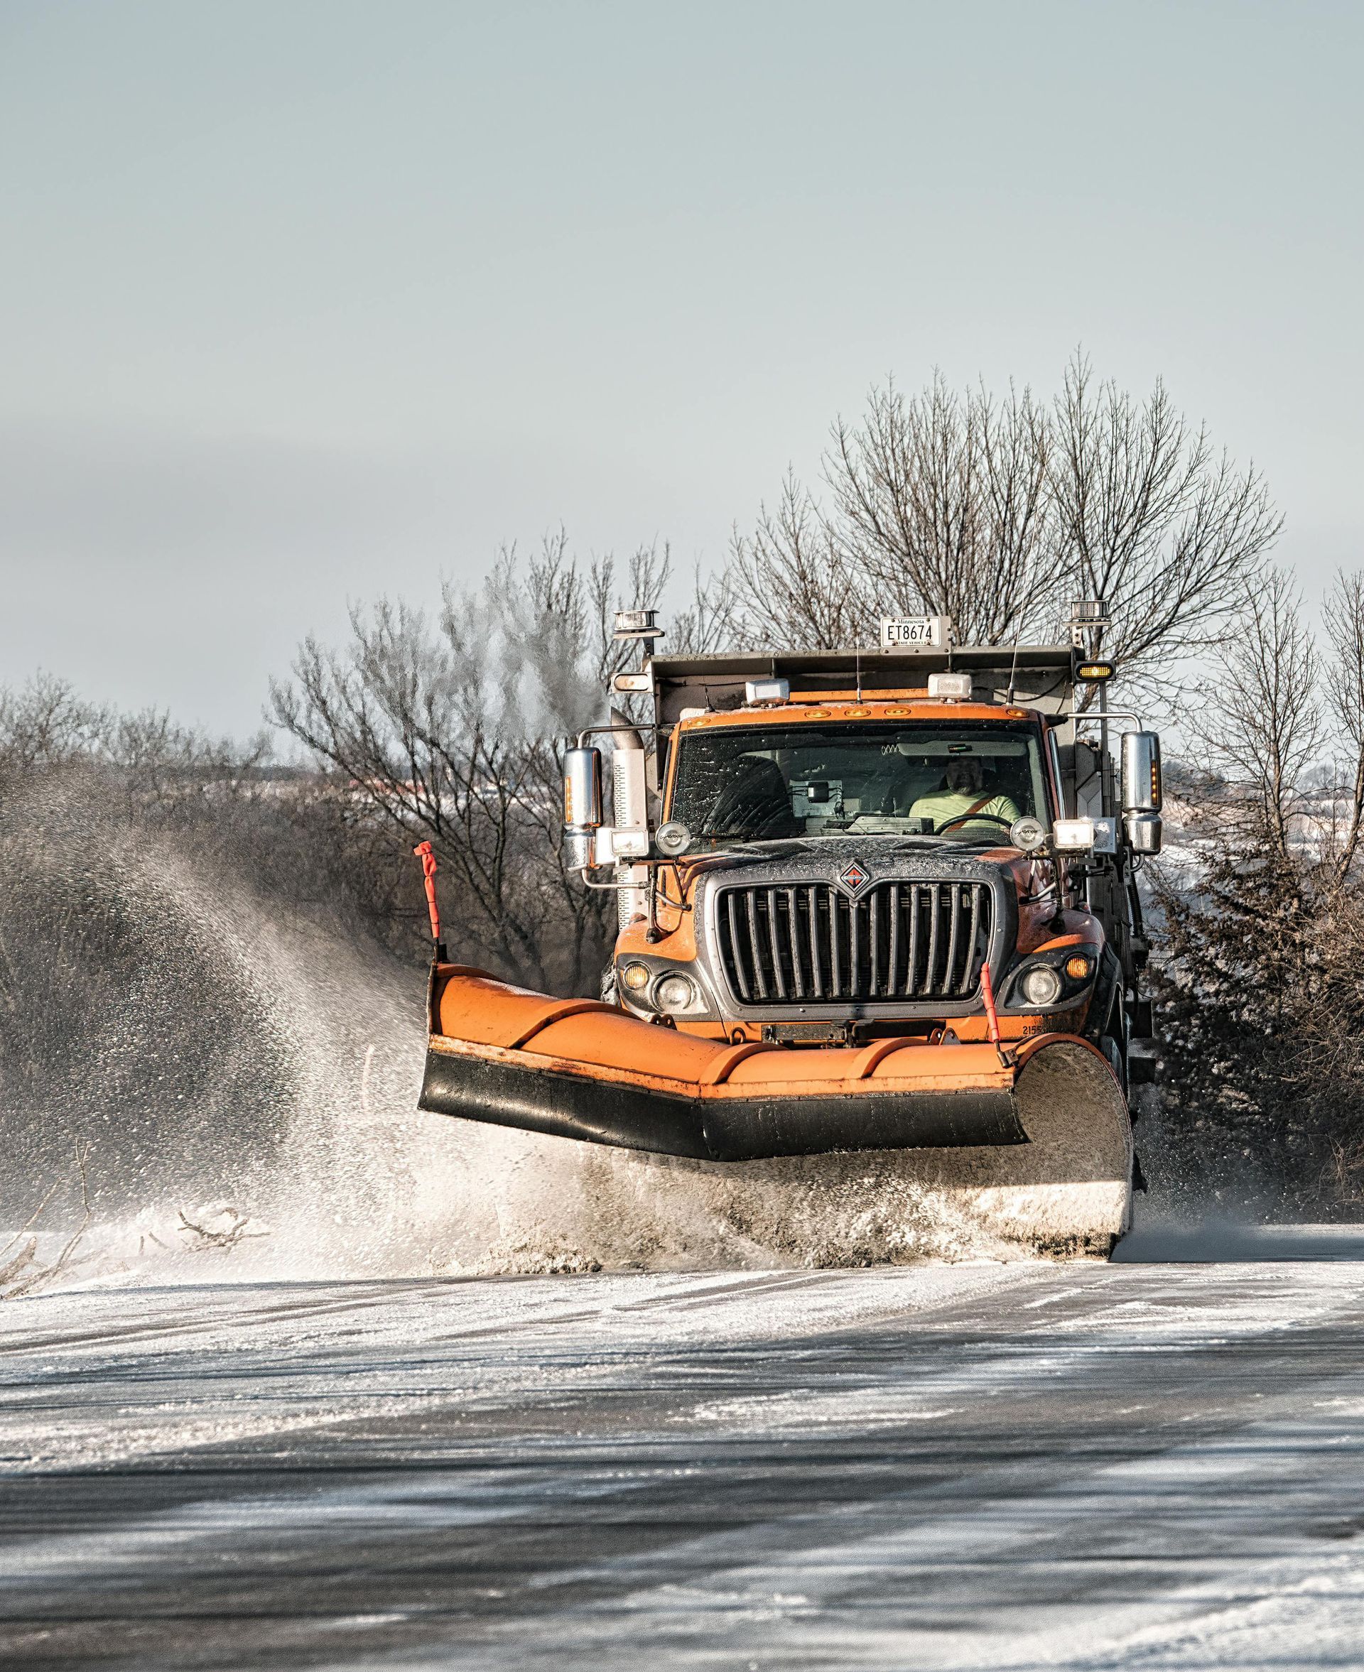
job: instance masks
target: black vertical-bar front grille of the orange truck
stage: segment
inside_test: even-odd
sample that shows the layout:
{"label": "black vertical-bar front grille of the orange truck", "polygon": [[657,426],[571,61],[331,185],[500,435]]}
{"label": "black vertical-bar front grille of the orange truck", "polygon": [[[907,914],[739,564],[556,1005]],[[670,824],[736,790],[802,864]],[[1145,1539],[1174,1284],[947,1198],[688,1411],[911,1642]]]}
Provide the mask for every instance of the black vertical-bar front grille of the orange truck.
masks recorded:
{"label": "black vertical-bar front grille of the orange truck", "polygon": [[832,883],[727,888],[715,910],[746,1005],[966,998],[990,951],[985,883],[878,883],[858,900]]}

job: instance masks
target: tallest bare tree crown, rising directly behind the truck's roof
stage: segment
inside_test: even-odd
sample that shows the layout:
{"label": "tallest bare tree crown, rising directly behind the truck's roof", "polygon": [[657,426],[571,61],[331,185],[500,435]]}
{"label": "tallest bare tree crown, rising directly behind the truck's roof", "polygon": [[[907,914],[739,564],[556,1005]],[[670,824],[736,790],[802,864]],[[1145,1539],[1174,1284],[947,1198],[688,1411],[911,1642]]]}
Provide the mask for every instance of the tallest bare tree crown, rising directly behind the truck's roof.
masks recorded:
{"label": "tallest bare tree crown, rising directly behind the truck's roof", "polygon": [[874,642],[886,614],[951,615],[964,642],[1055,632],[1080,597],[1112,629],[1093,652],[1163,689],[1224,642],[1280,518],[1264,478],[1214,453],[1163,385],[1145,401],[1083,356],[1048,406],[1010,386],[874,388],[824,455],[827,505],[787,477],[737,535],[730,575],[747,637],[831,649]]}

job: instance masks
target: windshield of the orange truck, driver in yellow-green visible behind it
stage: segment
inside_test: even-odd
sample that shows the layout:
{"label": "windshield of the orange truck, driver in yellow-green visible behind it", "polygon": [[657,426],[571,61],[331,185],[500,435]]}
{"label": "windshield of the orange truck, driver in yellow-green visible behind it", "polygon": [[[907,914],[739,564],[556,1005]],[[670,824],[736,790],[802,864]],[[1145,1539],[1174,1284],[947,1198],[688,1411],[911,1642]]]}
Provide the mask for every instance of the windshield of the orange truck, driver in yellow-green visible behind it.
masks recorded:
{"label": "windshield of the orange truck, driver in yellow-green visible behind it", "polygon": [[684,732],[669,811],[694,846],[847,833],[998,844],[1025,814],[1051,824],[1036,726],[936,721]]}

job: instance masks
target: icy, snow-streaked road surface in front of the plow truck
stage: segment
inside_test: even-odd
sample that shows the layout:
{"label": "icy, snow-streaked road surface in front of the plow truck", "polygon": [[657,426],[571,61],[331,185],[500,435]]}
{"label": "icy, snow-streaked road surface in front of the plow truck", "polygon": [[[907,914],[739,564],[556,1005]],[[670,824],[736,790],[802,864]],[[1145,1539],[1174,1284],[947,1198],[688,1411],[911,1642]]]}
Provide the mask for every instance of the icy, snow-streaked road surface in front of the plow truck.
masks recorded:
{"label": "icy, snow-streaked road surface in front of the plow truck", "polygon": [[1361,1665],[1311,1251],[17,1301],[0,1665]]}

